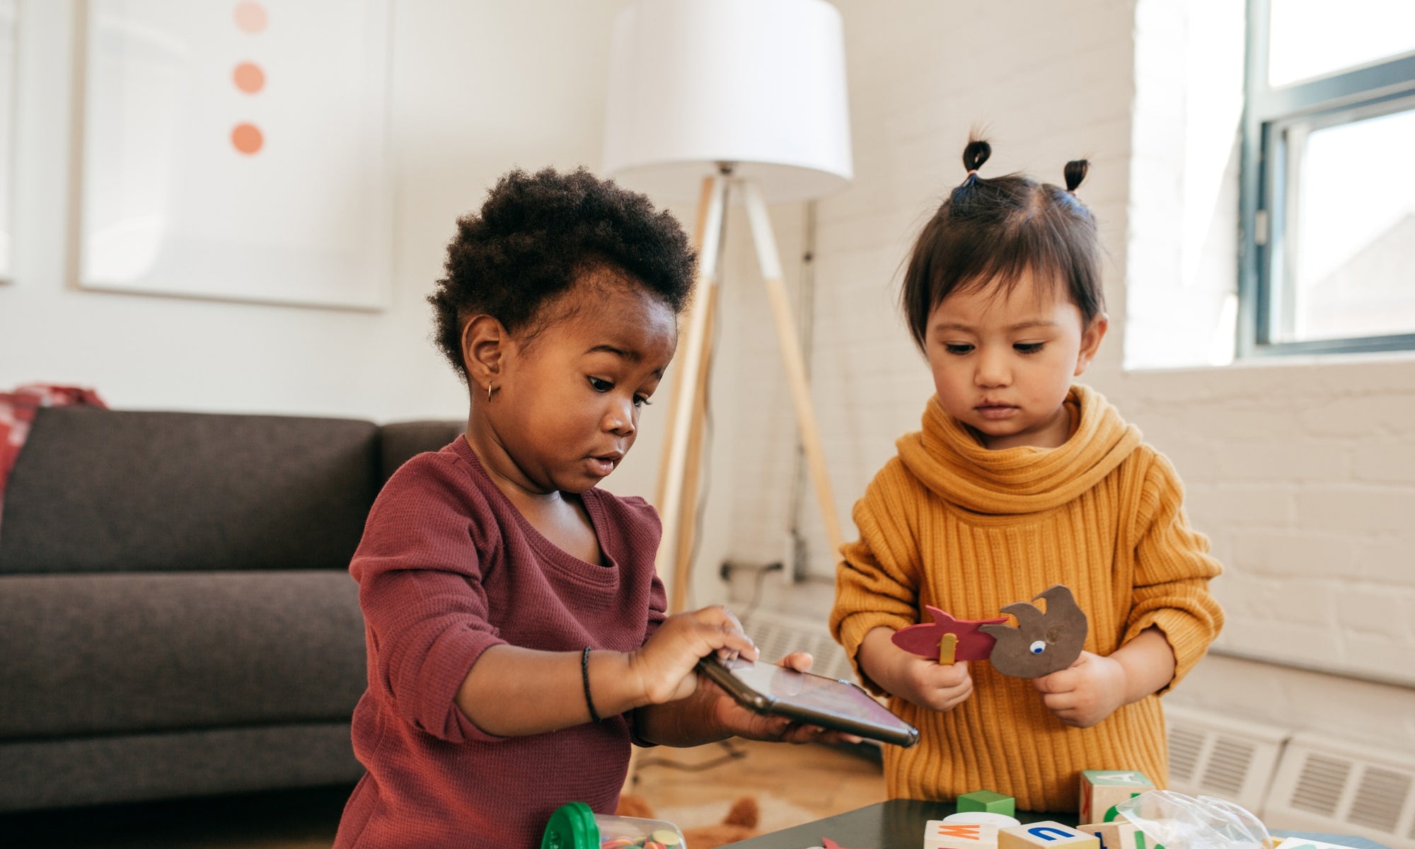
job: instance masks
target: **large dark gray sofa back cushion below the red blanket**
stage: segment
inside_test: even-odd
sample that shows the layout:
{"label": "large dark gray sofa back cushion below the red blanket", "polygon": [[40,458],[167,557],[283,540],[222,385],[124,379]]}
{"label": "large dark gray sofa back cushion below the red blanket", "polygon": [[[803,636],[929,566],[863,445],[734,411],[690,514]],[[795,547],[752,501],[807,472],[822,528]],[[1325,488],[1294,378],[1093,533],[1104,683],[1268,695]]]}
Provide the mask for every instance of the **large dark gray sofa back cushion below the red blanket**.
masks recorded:
{"label": "large dark gray sofa back cushion below the red blanket", "polygon": [[6,490],[0,573],[348,567],[371,422],[40,410]]}

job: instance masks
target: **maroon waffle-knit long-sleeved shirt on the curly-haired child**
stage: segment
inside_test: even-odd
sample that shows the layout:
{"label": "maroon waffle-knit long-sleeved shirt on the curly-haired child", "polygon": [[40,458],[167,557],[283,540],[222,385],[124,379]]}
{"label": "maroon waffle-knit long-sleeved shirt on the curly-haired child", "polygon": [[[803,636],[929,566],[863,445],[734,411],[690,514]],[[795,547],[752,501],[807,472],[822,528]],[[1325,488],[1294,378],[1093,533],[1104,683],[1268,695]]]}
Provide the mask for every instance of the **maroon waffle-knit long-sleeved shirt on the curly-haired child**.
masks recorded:
{"label": "maroon waffle-knit long-sleeved shirt on the curly-haired child", "polygon": [[[335,849],[531,849],[565,802],[614,812],[628,716],[495,737],[453,702],[492,645],[634,651],[664,620],[658,514],[642,498],[580,498],[603,566],[532,528],[460,436],[409,460],[379,492],[350,565],[368,642],[354,753],[368,773]],[[583,702],[580,681],[556,698]]]}

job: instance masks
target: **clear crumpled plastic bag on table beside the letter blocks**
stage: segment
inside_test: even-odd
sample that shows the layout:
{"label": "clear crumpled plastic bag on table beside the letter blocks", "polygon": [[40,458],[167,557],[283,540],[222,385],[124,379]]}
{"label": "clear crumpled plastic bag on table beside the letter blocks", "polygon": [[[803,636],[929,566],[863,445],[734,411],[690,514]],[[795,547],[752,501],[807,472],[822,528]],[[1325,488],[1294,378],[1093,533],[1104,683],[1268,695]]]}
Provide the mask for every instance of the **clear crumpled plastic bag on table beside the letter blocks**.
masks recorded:
{"label": "clear crumpled plastic bag on table beside the letter blocks", "polygon": [[1247,808],[1215,799],[1152,790],[1115,811],[1133,822],[1152,843],[1169,849],[1268,849],[1268,828]]}

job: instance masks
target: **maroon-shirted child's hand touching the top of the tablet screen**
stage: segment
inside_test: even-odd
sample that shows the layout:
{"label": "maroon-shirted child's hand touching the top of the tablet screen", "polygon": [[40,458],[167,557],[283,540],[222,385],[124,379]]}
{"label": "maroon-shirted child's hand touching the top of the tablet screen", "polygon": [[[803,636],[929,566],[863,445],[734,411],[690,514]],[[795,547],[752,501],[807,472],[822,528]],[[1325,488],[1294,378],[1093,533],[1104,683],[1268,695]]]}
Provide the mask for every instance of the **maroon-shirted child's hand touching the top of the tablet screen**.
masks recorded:
{"label": "maroon-shirted child's hand touching the top of the tablet screen", "polygon": [[698,659],[715,651],[757,659],[757,647],[726,607],[679,613],[664,620],[648,642],[628,657],[630,675],[637,676],[649,705],[662,705],[692,695],[698,686],[693,672]]}

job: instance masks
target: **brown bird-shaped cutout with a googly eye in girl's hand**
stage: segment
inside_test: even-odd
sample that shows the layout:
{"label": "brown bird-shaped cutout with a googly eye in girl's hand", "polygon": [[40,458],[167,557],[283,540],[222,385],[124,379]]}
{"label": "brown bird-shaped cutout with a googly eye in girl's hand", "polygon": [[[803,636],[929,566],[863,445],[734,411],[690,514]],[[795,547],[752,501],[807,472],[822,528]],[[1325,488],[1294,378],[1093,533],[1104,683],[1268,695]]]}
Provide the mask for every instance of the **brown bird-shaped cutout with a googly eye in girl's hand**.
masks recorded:
{"label": "brown bird-shaped cutout with a googly eye in girl's hand", "polygon": [[1047,611],[1034,604],[1015,601],[1002,608],[1017,617],[1017,627],[979,625],[979,631],[992,634],[998,642],[988,659],[993,669],[1013,678],[1041,678],[1060,672],[1081,657],[1085,645],[1085,613],[1075,604],[1065,584],[1044,590],[1037,599],[1047,600]]}

